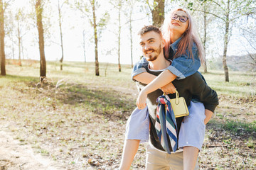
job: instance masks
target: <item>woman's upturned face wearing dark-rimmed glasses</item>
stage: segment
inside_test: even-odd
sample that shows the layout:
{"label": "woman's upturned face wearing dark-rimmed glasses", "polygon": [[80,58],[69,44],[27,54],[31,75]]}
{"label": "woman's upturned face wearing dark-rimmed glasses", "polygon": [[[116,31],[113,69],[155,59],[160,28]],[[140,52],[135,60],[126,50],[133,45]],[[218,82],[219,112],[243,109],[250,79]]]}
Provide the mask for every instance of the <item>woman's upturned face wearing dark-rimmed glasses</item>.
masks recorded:
{"label": "woman's upturned face wearing dark-rimmed glasses", "polygon": [[184,11],[174,11],[171,14],[171,30],[175,33],[185,33],[188,22],[188,15]]}

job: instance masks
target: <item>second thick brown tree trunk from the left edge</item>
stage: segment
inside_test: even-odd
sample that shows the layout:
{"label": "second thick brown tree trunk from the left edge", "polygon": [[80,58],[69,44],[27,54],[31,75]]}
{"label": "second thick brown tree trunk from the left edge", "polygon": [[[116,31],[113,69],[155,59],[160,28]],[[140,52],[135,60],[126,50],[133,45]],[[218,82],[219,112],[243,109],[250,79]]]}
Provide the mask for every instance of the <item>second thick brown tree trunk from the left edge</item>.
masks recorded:
{"label": "second thick brown tree trunk from the left edge", "polygon": [[43,7],[41,6],[41,0],[36,1],[36,26],[38,28],[39,38],[39,52],[40,52],[40,77],[41,80],[46,77],[46,56],[44,52],[44,39],[43,39],[43,23],[42,23]]}

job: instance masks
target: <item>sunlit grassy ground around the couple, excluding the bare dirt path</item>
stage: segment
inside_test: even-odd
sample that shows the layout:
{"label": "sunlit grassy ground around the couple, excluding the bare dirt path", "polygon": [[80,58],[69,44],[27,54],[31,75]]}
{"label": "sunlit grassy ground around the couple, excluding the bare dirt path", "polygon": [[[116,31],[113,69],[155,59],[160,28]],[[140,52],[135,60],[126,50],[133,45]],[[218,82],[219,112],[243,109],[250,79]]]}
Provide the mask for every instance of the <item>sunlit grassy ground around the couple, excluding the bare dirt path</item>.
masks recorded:
{"label": "sunlit grassy ground around the couple, excluding the bare dirt path", "polygon": [[[0,123],[22,144],[63,169],[118,167],[125,123],[137,98],[129,65],[118,72],[117,64],[100,63],[100,77],[95,77],[94,63],[64,62],[60,72],[58,63],[47,62],[48,84],[41,87],[38,62],[6,63]],[[229,83],[220,71],[203,76],[218,92],[220,105],[206,128],[201,169],[255,169],[255,75],[230,72]],[[131,169],[144,169],[145,156],[141,145]]]}

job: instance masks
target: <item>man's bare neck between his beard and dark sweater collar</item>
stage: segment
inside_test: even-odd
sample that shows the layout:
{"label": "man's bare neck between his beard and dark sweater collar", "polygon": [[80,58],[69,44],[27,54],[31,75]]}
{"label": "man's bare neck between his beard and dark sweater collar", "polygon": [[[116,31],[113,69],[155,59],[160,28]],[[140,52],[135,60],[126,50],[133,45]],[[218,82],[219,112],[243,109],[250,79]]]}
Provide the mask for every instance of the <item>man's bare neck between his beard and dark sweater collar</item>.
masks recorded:
{"label": "man's bare neck between his beard and dark sweater collar", "polygon": [[169,65],[170,61],[165,59],[163,52],[160,53],[156,60],[149,62],[149,68],[153,70],[166,69]]}

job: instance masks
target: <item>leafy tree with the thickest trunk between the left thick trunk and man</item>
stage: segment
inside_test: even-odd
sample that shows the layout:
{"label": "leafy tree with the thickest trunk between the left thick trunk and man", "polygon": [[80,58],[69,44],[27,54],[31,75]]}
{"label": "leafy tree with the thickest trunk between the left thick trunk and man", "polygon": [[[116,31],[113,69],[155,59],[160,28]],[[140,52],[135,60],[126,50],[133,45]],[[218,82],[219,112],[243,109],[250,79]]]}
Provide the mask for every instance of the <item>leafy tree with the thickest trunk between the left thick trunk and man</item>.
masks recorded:
{"label": "leafy tree with the thickest trunk between the left thick trunk and man", "polygon": [[90,22],[93,28],[93,35],[95,40],[95,75],[100,76],[99,69],[99,60],[98,60],[98,38],[100,37],[100,33],[102,28],[106,26],[106,23],[109,19],[109,13],[107,11],[101,16],[97,17],[96,12],[98,8],[100,8],[100,4],[97,0],[87,0],[86,3],[84,0],[76,0],[75,6],[81,11],[82,15],[84,15]]}

